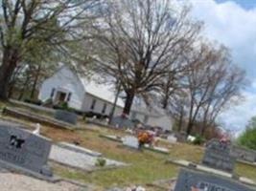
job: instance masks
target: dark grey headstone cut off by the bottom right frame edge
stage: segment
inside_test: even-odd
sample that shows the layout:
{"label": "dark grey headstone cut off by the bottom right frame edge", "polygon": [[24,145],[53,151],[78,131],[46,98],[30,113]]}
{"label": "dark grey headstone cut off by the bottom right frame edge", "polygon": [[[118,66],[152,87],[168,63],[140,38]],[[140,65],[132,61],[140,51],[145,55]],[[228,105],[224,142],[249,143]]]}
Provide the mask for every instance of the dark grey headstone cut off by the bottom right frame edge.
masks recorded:
{"label": "dark grey headstone cut off by the bottom right frame edge", "polygon": [[181,169],[175,191],[255,191],[255,188],[231,180],[195,170]]}

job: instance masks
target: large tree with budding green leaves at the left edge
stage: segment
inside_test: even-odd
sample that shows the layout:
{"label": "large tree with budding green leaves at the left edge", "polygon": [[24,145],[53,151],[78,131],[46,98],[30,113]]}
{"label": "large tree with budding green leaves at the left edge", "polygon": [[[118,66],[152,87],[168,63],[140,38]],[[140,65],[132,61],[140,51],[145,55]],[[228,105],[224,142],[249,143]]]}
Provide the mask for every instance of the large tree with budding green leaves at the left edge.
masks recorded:
{"label": "large tree with budding green leaves at the left edge", "polygon": [[47,56],[63,43],[80,39],[78,27],[98,0],[2,0],[0,10],[0,98],[26,56]]}

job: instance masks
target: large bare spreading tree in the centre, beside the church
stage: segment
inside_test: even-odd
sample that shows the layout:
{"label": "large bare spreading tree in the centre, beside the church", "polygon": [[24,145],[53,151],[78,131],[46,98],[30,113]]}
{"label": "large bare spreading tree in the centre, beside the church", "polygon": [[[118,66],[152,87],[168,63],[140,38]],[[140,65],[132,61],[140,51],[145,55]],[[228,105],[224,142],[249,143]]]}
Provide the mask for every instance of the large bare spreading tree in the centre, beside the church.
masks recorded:
{"label": "large bare spreading tree in the centre, beside the church", "polygon": [[163,76],[175,72],[180,55],[195,40],[200,23],[172,0],[106,1],[105,18],[94,25],[94,58],[101,72],[118,78],[126,93],[124,113],[134,96],[157,90]]}

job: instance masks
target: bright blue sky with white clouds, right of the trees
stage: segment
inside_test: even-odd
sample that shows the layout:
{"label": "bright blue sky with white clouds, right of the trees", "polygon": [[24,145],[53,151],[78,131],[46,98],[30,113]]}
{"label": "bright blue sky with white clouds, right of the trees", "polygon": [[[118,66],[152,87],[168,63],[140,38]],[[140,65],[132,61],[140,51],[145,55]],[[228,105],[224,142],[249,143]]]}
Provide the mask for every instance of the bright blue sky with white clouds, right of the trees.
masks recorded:
{"label": "bright blue sky with white clouds, right of the trees", "polygon": [[256,116],[256,0],[188,0],[193,15],[204,21],[204,33],[230,48],[234,63],[251,81],[244,90],[245,101],[221,116],[227,127],[241,132]]}

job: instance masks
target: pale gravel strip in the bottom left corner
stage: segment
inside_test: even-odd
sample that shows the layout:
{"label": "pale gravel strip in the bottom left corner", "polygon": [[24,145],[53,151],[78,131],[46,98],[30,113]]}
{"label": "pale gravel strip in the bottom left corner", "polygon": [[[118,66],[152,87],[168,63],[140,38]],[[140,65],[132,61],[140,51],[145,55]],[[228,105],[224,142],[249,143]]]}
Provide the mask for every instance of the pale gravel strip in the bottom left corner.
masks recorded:
{"label": "pale gravel strip in the bottom left corner", "polygon": [[36,180],[20,174],[0,173],[1,191],[86,191],[72,183],[59,181],[51,183],[43,180]]}

